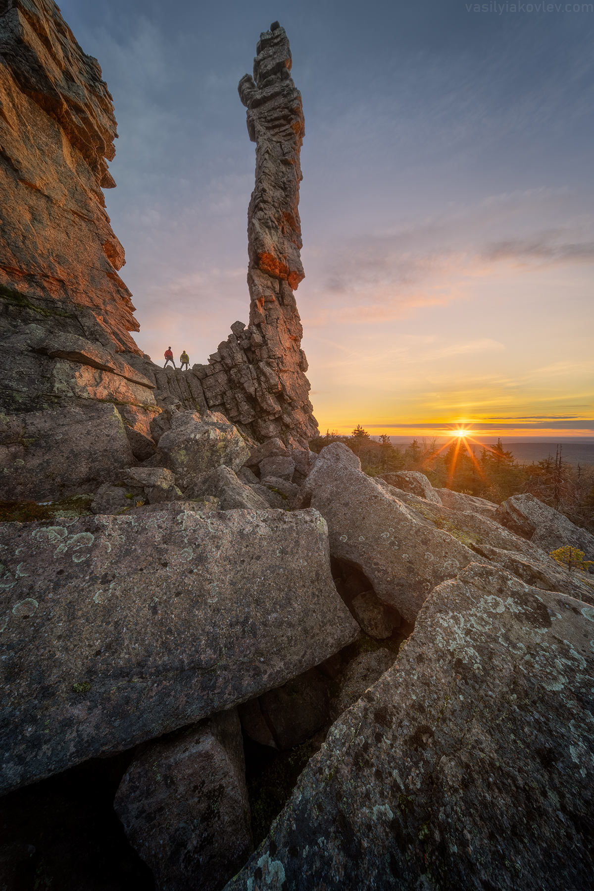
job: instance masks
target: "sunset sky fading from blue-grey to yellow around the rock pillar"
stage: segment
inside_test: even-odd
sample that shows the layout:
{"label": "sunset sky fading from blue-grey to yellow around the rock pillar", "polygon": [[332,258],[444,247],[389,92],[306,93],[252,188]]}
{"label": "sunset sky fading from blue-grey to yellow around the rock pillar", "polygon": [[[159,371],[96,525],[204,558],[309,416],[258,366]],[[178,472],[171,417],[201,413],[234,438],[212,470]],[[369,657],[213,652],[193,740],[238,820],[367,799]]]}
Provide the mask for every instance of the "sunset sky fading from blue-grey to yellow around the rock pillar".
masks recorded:
{"label": "sunset sky fading from blue-grey to yellow around the rock pillar", "polygon": [[[594,10],[451,0],[62,0],[119,138],[136,342],[248,322],[237,84],[279,20],[301,91],[297,290],[322,432],[594,437]],[[592,438],[591,441],[594,441]]]}

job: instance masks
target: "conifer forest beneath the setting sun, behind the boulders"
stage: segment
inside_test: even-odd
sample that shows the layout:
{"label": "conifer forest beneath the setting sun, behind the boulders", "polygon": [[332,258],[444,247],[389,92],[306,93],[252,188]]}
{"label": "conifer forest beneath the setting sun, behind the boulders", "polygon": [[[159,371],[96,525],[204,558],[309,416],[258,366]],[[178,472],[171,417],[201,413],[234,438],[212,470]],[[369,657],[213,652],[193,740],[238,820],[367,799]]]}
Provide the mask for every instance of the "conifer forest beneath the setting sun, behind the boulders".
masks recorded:
{"label": "conifer forest beneath the setting sun, behind the boulders", "polygon": [[539,462],[519,463],[500,439],[495,446],[473,446],[455,439],[438,446],[434,439],[413,439],[405,448],[393,446],[390,437],[371,439],[357,425],[350,437],[327,431],[312,439],[309,447],[320,452],[330,443],[344,443],[356,454],[362,470],[382,477],[397,470],[419,470],[435,488],[453,489],[500,504],[510,495],[530,493],[565,514],[577,526],[594,530],[594,465],[573,466],[560,454]]}

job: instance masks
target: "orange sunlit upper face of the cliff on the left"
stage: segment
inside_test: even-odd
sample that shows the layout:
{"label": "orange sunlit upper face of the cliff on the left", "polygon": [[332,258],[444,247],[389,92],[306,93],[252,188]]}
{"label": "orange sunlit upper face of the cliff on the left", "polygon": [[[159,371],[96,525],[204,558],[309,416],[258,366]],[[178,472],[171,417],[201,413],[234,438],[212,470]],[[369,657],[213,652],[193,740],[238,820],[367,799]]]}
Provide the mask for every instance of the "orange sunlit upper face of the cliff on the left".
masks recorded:
{"label": "orange sunlit upper face of the cliff on the left", "polygon": [[4,0],[0,13],[0,284],[90,307],[118,352],[142,355],[102,194],[118,135],[102,70],[53,0]]}

